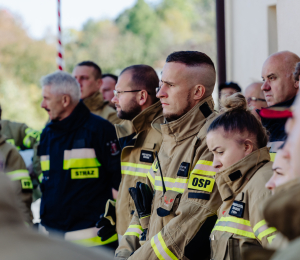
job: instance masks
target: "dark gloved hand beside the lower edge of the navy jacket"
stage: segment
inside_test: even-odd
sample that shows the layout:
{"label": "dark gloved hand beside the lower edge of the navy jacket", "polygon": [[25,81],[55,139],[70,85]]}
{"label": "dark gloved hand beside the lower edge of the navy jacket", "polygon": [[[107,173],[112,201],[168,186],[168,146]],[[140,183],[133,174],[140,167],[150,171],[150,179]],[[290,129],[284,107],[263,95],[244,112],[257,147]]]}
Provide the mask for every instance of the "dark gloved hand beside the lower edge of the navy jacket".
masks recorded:
{"label": "dark gloved hand beside the lower edge of the navy jacket", "polygon": [[100,220],[96,223],[97,228],[101,228],[97,235],[105,241],[116,234],[116,202],[108,200],[105,206],[104,214],[100,215]]}

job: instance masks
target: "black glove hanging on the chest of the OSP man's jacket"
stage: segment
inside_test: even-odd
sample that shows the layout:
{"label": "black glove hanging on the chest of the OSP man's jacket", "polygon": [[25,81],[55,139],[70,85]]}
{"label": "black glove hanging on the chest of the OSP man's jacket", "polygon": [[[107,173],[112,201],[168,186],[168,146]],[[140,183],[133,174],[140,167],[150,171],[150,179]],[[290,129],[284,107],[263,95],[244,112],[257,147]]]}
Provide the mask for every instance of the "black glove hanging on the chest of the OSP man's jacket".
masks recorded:
{"label": "black glove hanging on the chest of the OSP man's jacket", "polygon": [[137,182],[136,188],[129,188],[129,193],[134,201],[139,217],[151,215],[152,191],[145,183]]}

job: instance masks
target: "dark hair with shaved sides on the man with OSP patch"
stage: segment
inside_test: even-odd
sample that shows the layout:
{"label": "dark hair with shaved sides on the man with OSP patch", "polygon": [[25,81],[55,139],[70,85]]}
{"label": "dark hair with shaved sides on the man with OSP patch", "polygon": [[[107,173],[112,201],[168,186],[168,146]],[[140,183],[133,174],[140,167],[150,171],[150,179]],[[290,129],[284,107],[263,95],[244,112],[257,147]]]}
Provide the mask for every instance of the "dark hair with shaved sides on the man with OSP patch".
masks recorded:
{"label": "dark hair with shaved sides on the man with OSP patch", "polygon": [[194,68],[195,72],[191,77],[193,84],[201,84],[205,87],[204,97],[208,97],[213,93],[216,83],[216,69],[211,58],[205,53],[199,51],[173,52],[167,57],[166,62],[178,62]]}

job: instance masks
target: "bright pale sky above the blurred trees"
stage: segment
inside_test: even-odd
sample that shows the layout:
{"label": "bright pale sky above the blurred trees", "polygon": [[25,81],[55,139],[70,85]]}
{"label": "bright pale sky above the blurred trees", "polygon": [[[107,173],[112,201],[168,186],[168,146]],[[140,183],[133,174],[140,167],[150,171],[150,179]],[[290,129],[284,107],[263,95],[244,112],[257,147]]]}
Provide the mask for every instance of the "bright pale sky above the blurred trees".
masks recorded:
{"label": "bright pale sky above the blurred trees", "polygon": [[[61,0],[62,29],[81,29],[89,18],[116,18],[136,0]],[[157,3],[159,0],[146,0]],[[0,8],[18,15],[29,35],[41,39],[47,30],[57,31],[57,0],[0,0]]]}

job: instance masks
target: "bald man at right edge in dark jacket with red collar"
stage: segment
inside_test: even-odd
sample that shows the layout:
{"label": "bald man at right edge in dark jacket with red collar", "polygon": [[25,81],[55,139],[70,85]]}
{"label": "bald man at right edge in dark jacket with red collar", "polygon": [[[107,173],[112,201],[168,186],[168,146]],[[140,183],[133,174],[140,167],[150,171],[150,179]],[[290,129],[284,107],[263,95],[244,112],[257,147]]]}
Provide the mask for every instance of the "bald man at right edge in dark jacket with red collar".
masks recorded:
{"label": "bald man at right edge in dark jacket with red collar", "polygon": [[[290,107],[298,92],[299,85],[293,77],[293,72],[300,58],[292,52],[282,51],[272,54],[263,64],[262,79],[264,84],[261,89],[264,92],[268,107]],[[284,125],[286,119],[262,118],[263,126],[269,131],[270,139],[268,146],[271,147],[271,160],[278,147],[286,139]]]}

